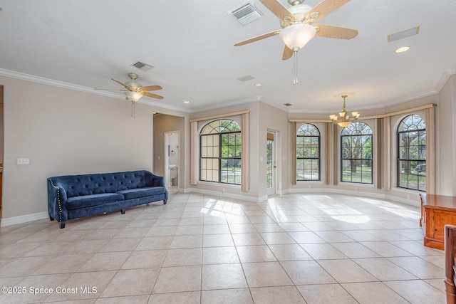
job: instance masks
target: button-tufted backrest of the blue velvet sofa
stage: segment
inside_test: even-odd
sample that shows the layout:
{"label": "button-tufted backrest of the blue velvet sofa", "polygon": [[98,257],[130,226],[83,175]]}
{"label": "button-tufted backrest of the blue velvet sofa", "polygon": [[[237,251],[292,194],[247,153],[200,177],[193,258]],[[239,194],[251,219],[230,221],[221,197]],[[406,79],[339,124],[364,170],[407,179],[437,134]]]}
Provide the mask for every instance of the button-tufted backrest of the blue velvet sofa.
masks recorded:
{"label": "button-tufted backrest of the blue velvet sofa", "polygon": [[66,190],[67,197],[83,196],[90,194],[115,193],[121,190],[142,187],[162,186],[153,184],[153,174],[146,170],[64,175],[50,177],[52,183]]}

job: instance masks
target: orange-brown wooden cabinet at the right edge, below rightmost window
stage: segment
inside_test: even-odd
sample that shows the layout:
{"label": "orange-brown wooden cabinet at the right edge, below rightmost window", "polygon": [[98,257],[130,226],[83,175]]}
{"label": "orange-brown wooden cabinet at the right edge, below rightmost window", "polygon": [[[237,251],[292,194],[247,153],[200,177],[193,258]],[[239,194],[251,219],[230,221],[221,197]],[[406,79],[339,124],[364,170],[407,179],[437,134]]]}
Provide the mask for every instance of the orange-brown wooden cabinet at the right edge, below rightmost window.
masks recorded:
{"label": "orange-brown wooden cabinet at the right edge, below rightmost window", "polygon": [[445,225],[456,225],[456,196],[420,194],[424,245],[443,250]]}

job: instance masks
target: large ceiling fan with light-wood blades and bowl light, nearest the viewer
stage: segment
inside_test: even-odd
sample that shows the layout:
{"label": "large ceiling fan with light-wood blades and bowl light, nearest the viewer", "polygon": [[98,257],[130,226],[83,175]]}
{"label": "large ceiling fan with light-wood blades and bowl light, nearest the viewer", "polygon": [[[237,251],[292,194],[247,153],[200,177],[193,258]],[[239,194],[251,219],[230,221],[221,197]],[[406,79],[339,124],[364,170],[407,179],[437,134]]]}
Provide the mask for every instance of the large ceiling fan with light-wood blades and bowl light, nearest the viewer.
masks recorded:
{"label": "large ceiling fan with light-wood blades and bowl light, nearest the viewer", "polygon": [[281,30],[271,31],[263,35],[250,38],[234,44],[234,46],[244,46],[244,44],[259,41],[264,38],[280,35],[285,43],[285,49],[282,56],[287,60],[294,55],[295,69],[293,83],[298,83],[297,76],[297,53],[303,48],[314,36],[337,39],[351,39],[358,35],[358,31],[351,28],[341,28],[339,26],[328,26],[326,24],[312,24],[324,16],[336,11],[350,0],[323,0],[314,8],[303,4],[304,0],[288,0],[291,4],[289,9],[279,2],[279,0],[259,0],[266,6],[272,14],[280,19]]}

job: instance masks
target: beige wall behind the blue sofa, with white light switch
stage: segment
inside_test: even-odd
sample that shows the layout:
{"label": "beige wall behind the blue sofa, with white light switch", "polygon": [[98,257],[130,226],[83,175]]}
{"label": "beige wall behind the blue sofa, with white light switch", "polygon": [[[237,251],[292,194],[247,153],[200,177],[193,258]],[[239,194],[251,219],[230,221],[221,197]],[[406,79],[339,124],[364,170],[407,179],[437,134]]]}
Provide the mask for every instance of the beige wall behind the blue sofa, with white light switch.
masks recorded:
{"label": "beige wall behind the blue sofa, with white light switch", "polygon": [[47,213],[47,177],[152,169],[152,107],[137,104],[133,119],[125,100],[6,77],[0,85],[3,219]]}

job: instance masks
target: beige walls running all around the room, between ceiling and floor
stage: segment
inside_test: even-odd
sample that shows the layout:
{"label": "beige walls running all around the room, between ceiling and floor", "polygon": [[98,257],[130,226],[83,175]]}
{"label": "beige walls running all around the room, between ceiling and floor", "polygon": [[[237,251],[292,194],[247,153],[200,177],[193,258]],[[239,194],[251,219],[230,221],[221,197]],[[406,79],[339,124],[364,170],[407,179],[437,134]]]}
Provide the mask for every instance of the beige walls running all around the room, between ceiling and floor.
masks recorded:
{"label": "beige walls running all around the room, between ceiling and floor", "polygon": [[[353,192],[358,194],[416,201],[418,192],[394,188],[385,192],[373,186],[299,183],[291,185],[290,118],[326,119],[326,114],[288,114],[261,102],[235,105],[198,113],[183,113],[138,103],[136,119],[130,117],[130,103],[125,100],[56,88],[50,85],[0,77],[4,85],[4,191],[2,219],[47,213],[46,178],[59,174],[114,172],[149,169],[162,174],[164,163],[157,159],[164,151],[163,134],[180,130],[180,189],[184,192],[204,192],[252,201],[266,197],[266,132],[279,135],[277,178],[279,192]],[[388,108],[361,112],[375,115],[437,104],[436,113],[436,192],[455,195],[456,187],[456,75],[452,75],[439,94],[417,98]],[[190,122],[192,118],[249,110],[249,192],[240,187],[204,184],[190,186]],[[152,111],[162,115],[152,117]],[[402,116],[391,117],[395,130]],[[324,125],[324,124],[321,124]],[[318,125],[322,132],[324,128]],[[375,129],[375,124],[370,124]],[[331,129],[327,136],[338,136]],[[392,139],[395,150],[395,138]],[[322,142],[323,144],[323,142]],[[324,144],[323,144],[324,145]],[[326,165],[337,177],[338,161],[333,142]],[[338,150],[338,148],[336,148]],[[152,159],[155,156],[155,159]],[[16,158],[28,157],[30,164],[18,165]],[[263,157],[263,162],[259,159]],[[393,157],[393,162],[395,158]],[[393,164],[395,167],[395,164]],[[323,172],[326,172],[322,169]],[[395,179],[395,172],[392,172]],[[223,194],[224,192],[224,194]]]}

